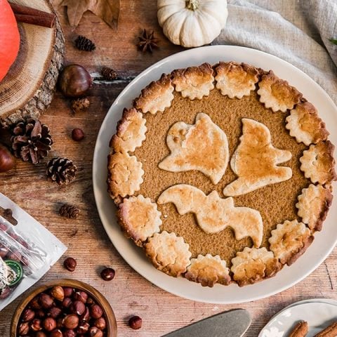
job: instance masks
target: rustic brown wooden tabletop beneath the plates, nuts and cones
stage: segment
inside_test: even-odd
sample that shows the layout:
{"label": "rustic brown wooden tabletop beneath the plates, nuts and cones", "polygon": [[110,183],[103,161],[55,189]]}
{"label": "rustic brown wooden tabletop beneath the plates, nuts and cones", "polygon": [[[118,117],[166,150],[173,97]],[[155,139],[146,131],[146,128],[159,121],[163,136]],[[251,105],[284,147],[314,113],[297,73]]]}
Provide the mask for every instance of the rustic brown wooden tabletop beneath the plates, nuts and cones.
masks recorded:
{"label": "rustic brown wooden tabletop beneath the plates, nuts and cones", "polygon": [[[119,336],[162,336],[218,312],[246,308],[253,317],[253,323],[245,336],[256,337],[270,317],[290,303],[315,297],[337,299],[337,249],[312,275],[275,296],[241,305],[197,303],[166,293],[132,270],[112,246],[95,207],[91,182],[92,157],[95,139],[107,110],[137,74],[154,62],[183,49],[170,44],[161,34],[156,3],[147,0],[121,1],[119,28],[114,31],[89,12],[77,28],[72,28],[68,25],[65,8],[57,6],[54,1],[65,34],[66,62],[84,65],[96,78],[90,92],[91,107],[88,112],[74,115],[70,103],[57,93],[51,107],[41,117],[41,121],[51,128],[54,140],[50,157],[72,159],[79,172],[72,184],[58,187],[46,182],[44,164],[32,166],[18,160],[15,169],[0,174],[0,191],[61,239],[68,246],[65,256],[77,258],[78,266],[74,273],[62,267],[62,257],[38,284],[58,277],[80,279],[92,284],[110,301],[117,317]],[[135,47],[137,36],[143,28],[154,29],[161,40],[159,50],[153,54],[143,54]],[[77,51],[72,41],[78,34],[93,39],[96,51]],[[121,79],[110,83],[97,79],[102,66],[113,67]],[[86,133],[81,143],[74,142],[70,137],[74,127],[83,128]],[[60,204],[64,202],[79,207],[81,213],[77,220],[58,215]],[[104,265],[111,265],[116,270],[112,282],[100,279],[99,272]],[[1,311],[0,336],[8,336],[11,317],[20,298]],[[142,329],[133,331],[128,327],[127,321],[131,315],[143,317]]]}

